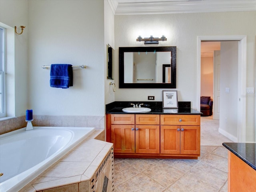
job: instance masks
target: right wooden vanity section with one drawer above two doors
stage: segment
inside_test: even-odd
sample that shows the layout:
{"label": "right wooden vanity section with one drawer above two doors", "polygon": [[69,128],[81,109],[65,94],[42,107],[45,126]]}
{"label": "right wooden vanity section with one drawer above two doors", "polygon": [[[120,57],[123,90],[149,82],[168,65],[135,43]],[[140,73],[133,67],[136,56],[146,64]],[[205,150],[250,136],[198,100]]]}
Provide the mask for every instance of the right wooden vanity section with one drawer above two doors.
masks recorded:
{"label": "right wooden vanity section with one drawer above two doors", "polygon": [[200,154],[200,115],[161,115],[160,130],[162,154]]}

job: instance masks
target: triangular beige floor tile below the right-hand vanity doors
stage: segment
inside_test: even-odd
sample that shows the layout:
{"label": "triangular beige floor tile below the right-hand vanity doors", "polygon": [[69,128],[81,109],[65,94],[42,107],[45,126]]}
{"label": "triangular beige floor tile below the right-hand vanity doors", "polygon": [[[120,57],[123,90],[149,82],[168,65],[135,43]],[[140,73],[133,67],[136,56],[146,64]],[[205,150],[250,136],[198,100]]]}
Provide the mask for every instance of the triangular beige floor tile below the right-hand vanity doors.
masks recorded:
{"label": "triangular beige floor tile below the right-hand vanity doors", "polygon": [[192,167],[194,167],[196,164],[198,164],[199,160],[195,160],[195,159],[164,159],[163,162],[186,173]]}

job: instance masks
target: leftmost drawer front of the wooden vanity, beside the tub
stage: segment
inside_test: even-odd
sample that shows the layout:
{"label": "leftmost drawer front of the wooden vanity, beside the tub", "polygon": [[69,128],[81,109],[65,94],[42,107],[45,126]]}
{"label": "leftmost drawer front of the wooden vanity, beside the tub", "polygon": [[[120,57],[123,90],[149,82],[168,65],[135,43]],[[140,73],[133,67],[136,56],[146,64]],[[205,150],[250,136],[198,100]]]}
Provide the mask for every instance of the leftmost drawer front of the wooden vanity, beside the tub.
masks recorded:
{"label": "leftmost drawer front of the wooden vanity, beside the tub", "polygon": [[111,124],[132,125],[135,124],[134,114],[111,114]]}

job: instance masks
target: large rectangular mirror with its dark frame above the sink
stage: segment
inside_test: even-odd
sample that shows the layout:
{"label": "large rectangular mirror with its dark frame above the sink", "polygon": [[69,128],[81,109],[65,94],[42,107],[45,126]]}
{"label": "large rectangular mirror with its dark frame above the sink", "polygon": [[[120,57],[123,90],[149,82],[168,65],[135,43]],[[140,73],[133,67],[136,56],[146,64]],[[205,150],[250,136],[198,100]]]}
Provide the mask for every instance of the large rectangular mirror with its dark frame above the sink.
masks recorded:
{"label": "large rectangular mirror with its dark frame above the sink", "polygon": [[176,46],[119,47],[119,88],[176,88]]}

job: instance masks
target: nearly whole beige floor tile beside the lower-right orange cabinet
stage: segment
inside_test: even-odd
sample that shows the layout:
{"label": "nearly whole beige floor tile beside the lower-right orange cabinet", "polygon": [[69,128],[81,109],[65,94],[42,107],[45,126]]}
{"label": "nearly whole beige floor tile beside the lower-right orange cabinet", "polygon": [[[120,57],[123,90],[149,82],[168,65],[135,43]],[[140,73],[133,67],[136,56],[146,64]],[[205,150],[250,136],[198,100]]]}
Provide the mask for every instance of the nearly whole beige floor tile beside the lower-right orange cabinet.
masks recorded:
{"label": "nearly whole beige floor tile beside the lower-right orange cabinet", "polygon": [[191,178],[201,180],[219,190],[228,178],[227,173],[203,163],[199,163],[194,166],[187,175]]}

